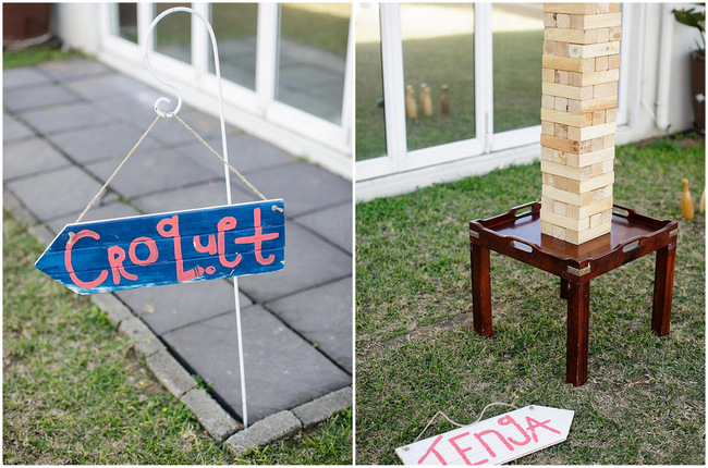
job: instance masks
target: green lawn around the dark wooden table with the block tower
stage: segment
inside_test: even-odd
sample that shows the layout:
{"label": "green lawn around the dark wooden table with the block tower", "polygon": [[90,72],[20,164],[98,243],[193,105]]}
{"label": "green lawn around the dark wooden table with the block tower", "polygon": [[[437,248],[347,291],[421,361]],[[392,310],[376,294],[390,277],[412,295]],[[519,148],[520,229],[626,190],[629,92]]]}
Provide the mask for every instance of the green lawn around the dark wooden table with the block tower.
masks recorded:
{"label": "green lawn around the dark wooden table with the block tower", "polygon": [[[492,253],[495,336],[468,317],[467,223],[540,199],[539,163],[357,205],[357,463],[400,463],[394,448],[437,411],[469,423],[503,402],[575,411],[566,442],[518,464],[704,464],[705,214],[685,221],[680,206],[681,178],[697,204],[704,174],[703,137],[618,147],[615,202],[680,224],[671,334],[650,332],[654,255],[593,280],[581,387],[564,383],[557,276]],[[425,436],[451,429],[438,421]]]}

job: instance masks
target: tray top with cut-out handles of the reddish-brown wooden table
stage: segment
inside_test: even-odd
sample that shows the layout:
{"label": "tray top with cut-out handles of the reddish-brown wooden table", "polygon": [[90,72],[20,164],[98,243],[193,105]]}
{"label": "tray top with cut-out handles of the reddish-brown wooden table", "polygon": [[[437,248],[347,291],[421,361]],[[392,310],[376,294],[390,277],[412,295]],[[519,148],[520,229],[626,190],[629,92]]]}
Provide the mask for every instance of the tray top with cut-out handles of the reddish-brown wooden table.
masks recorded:
{"label": "tray top with cut-out handles of the reddish-brown wooden table", "polygon": [[[512,208],[493,218],[471,221],[471,242],[473,237],[474,243],[484,244],[488,241],[490,243],[488,247],[497,251],[505,250],[503,246],[510,245],[527,254],[537,253],[579,266],[617,253],[627,254],[639,246],[642,249],[636,254],[646,255],[667,245],[678,234],[675,221],[659,220],[639,214],[631,208],[614,205],[610,234],[574,245],[541,234],[540,207],[540,202],[534,201]],[[501,249],[496,248],[500,245]],[[520,255],[525,257],[523,254]],[[524,260],[524,258],[520,259]]]}

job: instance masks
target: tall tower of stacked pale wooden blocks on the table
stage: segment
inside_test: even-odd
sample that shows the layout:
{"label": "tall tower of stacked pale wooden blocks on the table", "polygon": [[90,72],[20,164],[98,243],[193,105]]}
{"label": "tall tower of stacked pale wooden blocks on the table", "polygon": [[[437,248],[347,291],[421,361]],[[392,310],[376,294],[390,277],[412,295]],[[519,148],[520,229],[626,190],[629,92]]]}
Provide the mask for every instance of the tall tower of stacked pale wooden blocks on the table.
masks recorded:
{"label": "tall tower of stacked pale wooden blocks on the table", "polygon": [[544,3],[541,233],[610,232],[620,78],[619,3]]}

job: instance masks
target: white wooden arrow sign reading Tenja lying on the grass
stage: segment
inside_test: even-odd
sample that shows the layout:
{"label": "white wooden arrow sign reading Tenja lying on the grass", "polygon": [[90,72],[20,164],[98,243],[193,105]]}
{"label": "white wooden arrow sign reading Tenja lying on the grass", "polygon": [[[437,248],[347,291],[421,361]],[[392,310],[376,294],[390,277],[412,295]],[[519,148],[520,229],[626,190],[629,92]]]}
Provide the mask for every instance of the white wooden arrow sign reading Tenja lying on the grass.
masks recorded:
{"label": "white wooden arrow sign reading Tenja lying on the grass", "polygon": [[404,465],[502,465],[567,439],[574,411],[526,406],[395,449]]}

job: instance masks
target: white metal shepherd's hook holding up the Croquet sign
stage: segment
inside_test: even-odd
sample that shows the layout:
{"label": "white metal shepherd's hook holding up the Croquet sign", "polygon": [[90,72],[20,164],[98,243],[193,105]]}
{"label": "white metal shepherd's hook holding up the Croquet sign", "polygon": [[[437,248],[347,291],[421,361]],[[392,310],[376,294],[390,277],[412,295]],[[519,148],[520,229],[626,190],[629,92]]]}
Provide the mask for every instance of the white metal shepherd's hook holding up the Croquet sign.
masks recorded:
{"label": "white metal shepherd's hook holding up the Croquet sign", "polygon": [[[230,172],[229,172],[229,151],[227,149],[227,130],[225,130],[225,124],[223,121],[223,98],[221,95],[221,67],[219,65],[219,50],[217,49],[217,38],[213,35],[213,29],[211,28],[211,25],[207,21],[204,15],[202,15],[199,12],[192,10],[191,8],[185,8],[185,7],[176,7],[176,8],[171,8],[169,10],[163,11],[160,13],[155,20],[152,20],[152,23],[150,23],[150,27],[148,27],[147,30],[147,36],[145,38],[145,65],[147,66],[147,70],[152,74],[155,79],[163,84],[164,86],[169,87],[174,91],[174,94],[178,97],[178,103],[174,110],[166,112],[160,109],[161,103],[170,103],[172,102],[171,99],[161,97],[158,98],[155,101],[155,112],[157,112],[158,115],[160,115],[163,119],[170,119],[171,116],[176,115],[178,112],[180,112],[180,109],[182,108],[182,95],[178,90],[178,88],[174,85],[169,84],[164,79],[160,78],[157,73],[155,73],[155,70],[150,65],[150,60],[149,60],[149,51],[150,51],[150,38],[152,35],[152,29],[155,29],[155,26],[162,20],[164,16],[183,11],[185,13],[193,14],[197,16],[202,22],[205,24],[207,29],[209,30],[209,37],[211,38],[211,48],[213,50],[213,63],[216,67],[216,74],[217,74],[217,83],[219,87],[219,119],[221,121],[221,147],[222,147],[222,152],[223,152],[223,172],[224,172],[224,180],[227,184],[227,204],[231,205],[231,177],[230,177]],[[241,404],[242,404],[242,412],[243,412],[243,427],[244,429],[248,427],[248,410],[247,410],[247,404],[246,404],[246,375],[245,375],[245,370],[244,370],[244,357],[243,357],[243,338],[242,338],[242,332],[241,332],[241,304],[239,301],[239,279],[237,276],[233,278],[233,297],[235,301],[235,309],[236,309],[236,338],[239,342],[239,373],[241,375]]]}

